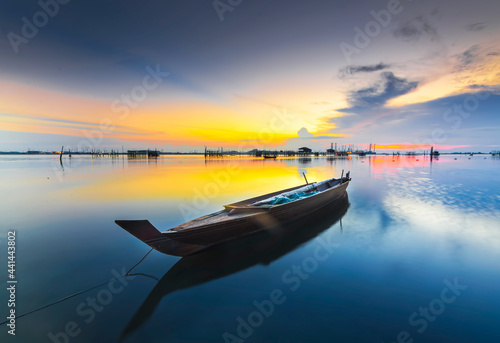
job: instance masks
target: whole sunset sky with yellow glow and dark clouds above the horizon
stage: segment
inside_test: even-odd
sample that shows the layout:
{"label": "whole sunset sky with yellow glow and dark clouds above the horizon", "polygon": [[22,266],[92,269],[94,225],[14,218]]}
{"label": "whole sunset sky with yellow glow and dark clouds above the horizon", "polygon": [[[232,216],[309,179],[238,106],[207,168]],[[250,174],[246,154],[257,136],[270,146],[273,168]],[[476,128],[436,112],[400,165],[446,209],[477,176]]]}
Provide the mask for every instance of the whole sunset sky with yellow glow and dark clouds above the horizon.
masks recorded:
{"label": "whole sunset sky with yellow glow and dark clouds above the horizon", "polygon": [[498,0],[4,0],[0,151],[500,150]]}

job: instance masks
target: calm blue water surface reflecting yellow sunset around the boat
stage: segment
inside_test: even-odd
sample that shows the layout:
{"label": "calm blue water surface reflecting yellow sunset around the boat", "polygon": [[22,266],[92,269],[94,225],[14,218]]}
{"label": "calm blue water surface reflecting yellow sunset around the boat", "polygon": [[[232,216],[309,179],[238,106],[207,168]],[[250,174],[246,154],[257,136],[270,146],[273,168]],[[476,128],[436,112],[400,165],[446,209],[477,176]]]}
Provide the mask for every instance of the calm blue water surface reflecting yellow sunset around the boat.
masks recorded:
{"label": "calm blue water surface reflecting yellow sunset around the boat", "polygon": [[[456,158],[456,160],[455,160]],[[167,229],[350,170],[342,210],[222,255],[151,252]],[[16,231],[16,336],[2,342],[498,342],[500,160],[0,157],[0,281]],[[339,205],[340,206],[340,205]],[[341,217],[341,220],[339,220]],[[2,287],[3,289],[5,287]],[[0,293],[0,314],[8,313]],[[66,330],[66,332],[65,332]],[[50,338],[52,337],[52,338]]]}

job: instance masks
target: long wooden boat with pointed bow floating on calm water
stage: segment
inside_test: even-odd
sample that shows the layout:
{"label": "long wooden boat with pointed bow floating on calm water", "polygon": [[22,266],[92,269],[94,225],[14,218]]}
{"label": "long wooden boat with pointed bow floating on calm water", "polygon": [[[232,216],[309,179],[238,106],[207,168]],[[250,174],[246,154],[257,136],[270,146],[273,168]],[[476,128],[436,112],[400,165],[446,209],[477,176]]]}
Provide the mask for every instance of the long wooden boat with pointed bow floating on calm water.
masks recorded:
{"label": "long wooden boat with pointed bow floating on calm water", "polygon": [[152,248],[188,256],[218,243],[295,221],[342,196],[349,172],[328,179],[225,205],[222,211],[160,232],[148,220],[116,220],[116,224]]}

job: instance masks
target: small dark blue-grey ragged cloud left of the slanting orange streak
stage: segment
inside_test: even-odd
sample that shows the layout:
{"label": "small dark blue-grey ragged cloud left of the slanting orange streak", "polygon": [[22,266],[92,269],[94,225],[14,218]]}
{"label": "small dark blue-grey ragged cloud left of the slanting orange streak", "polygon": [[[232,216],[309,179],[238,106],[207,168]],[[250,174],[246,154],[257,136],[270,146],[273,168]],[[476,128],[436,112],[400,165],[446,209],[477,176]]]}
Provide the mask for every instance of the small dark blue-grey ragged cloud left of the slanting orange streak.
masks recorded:
{"label": "small dark blue-grey ragged cloud left of the slanting orange streak", "polygon": [[418,81],[408,81],[387,71],[380,74],[374,85],[352,91],[347,100],[352,107],[380,107],[392,98],[406,94],[417,88]]}

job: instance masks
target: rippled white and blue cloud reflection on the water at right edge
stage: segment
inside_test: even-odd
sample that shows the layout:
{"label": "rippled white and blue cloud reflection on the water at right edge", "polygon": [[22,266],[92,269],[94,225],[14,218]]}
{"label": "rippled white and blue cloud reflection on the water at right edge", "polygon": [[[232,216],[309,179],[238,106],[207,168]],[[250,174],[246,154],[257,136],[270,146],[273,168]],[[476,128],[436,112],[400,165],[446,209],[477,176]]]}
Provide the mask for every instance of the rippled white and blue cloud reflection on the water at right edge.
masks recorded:
{"label": "rippled white and blue cloud reflection on the water at right edge", "polygon": [[[483,264],[500,254],[499,199],[468,184],[437,185],[429,178],[394,178],[383,201],[391,217],[391,250]],[[418,243],[417,243],[418,241]],[[490,262],[493,262],[490,260]]]}

